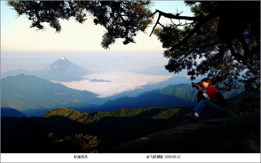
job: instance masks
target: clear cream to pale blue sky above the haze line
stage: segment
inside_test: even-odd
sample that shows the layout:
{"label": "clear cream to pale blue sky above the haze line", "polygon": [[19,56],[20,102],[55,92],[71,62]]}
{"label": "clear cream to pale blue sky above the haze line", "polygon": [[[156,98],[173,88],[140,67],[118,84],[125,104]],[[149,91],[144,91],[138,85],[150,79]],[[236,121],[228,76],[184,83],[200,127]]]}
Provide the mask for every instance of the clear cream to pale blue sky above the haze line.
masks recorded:
{"label": "clear cream to pale blue sky above the haze line", "polygon": [[[174,13],[176,8],[183,10],[183,16],[192,16],[189,7],[186,7],[183,1],[153,1],[152,11],[159,9],[164,12]],[[95,52],[102,51],[104,53],[118,53],[122,51],[158,51],[162,55],[163,48],[161,43],[154,35],[149,37],[154,24],[147,30],[147,35],[139,33],[135,38],[136,44],[130,43],[123,45],[122,40],[118,39],[110,50],[104,50],[101,45],[101,38],[104,28],[94,25],[92,18],[89,18],[85,24],[81,25],[75,20],[60,20],[62,30],[61,33],[55,33],[55,30],[45,25],[46,31],[36,32],[36,28],[29,28],[30,21],[25,16],[16,18],[14,10],[5,5],[1,1],[1,57],[19,58],[22,52],[52,52],[52,51],[73,51],[73,52]],[[158,14],[154,17],[156,22]],[[161,19],[161,23],[169,23],[169,19]],[[10,53],[5,52],[12,52]],[[27,55],[30,55],[27,53]],[[31,54],[33,55],[33,54]],[[129,53],[128,55],[131,55]],[[149,52],[148,55],[151,55]],[[156,55],[156,54],[155,54]],[[30,57],[30,56],[27,56]]]}

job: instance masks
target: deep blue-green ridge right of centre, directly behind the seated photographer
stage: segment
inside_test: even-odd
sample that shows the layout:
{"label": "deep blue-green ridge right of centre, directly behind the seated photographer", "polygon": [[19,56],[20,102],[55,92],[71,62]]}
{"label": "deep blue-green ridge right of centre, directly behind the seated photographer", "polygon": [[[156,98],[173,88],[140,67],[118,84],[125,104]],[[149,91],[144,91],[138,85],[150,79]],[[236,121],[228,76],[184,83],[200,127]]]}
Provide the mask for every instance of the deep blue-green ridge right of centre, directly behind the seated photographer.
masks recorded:
{"label": "deep blue-green ridge right of centre, directly behind the seated photographer", "polygon": [[[167,83],[166,81],[163,83]],[[159,85],[163,83],[159,83]],[[229,99],[230,97],[234,97],[243,91],[244,88],[242,87],[241,89],[236,89],[230,92],[222,91],[222,93],[225,99]],[[120,108],[171,108],[195,106],[197,105],[197,92],[197,89],[191,87],[190,84],[168,85],[163,89],[146,91],[137,97],[121,97],[115,100],[109,100],[102,104],[99,108],[102,111],[113,111]]]}

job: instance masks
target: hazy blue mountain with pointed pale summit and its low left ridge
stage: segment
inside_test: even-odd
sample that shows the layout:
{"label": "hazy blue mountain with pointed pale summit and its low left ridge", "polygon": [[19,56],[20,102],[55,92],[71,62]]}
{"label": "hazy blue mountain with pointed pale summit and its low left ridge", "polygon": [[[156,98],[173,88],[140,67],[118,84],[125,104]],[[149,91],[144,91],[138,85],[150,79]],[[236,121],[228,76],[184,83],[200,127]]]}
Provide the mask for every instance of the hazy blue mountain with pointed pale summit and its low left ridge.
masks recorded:
{"label": "hazy blue mountain with pointed pale summit and its low left ridge", "polygon": [[62,56],[61,59],[53,62],[44,70],[10,70],[3,72],[1,78],[16,76],[18,74],[33,75],[42,79],[68,82],[86,79],[83,78],[83,76],[90,74],[90,71],[73,64]]}

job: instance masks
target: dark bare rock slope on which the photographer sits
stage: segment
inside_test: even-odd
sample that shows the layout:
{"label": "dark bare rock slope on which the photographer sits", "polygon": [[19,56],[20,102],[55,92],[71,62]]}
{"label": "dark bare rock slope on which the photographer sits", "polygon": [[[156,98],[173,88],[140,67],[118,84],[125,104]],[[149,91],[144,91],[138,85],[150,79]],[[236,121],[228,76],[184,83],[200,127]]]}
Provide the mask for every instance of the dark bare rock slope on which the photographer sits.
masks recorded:
{"label": "dark bare rock slope on which the photographer sits", "polygon": [[260,153],[260,113],[180,124],[106,153]]}

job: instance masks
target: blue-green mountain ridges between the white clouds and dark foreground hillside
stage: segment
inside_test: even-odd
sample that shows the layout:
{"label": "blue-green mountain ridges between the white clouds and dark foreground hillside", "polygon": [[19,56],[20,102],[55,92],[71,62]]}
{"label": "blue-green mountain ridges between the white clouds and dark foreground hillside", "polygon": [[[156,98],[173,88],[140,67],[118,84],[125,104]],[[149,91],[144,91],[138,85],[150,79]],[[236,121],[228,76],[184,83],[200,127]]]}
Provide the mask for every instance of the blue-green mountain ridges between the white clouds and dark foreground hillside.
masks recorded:
{"label": "blue-green mountain ridges between the white clouds and dark foreground hillside", "polygon": [[[145,85],[142,86],[143,89],[125,92],[133,97],[123,96],[124,93],[121,93],[122,96],[119,98],[113,96],[102,99],[90,91],[79,91],[36,76],[19,74],[1,79],[1,116],[12,114],[19,116],[18,112],[7,110],[8,108],[20,111],[20,116],[41,116],[57,107],[90,113],[109,112],[120,108],[195,106],[197,90],[188,83],[189,78],[174,76],[156,85]],[[222,91],[222,94],[229,99],[243,91],[242,87],[230,92]]]}

